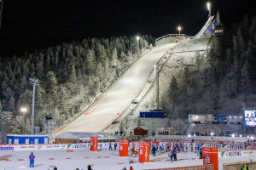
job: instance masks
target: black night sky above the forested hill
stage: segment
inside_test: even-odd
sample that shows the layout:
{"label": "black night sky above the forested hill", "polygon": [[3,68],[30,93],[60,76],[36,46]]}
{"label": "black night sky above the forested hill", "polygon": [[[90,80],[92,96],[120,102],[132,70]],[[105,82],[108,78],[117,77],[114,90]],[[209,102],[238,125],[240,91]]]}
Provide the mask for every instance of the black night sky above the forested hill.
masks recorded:
{"label": "black night sky above the forested hill", "polygon": [[[3,0],[0,56],[24,54],[84,37],[177,33],[193,36],[207,20],[205,0]],[[212,0],[229,26],[256,14],[255,0]]]}

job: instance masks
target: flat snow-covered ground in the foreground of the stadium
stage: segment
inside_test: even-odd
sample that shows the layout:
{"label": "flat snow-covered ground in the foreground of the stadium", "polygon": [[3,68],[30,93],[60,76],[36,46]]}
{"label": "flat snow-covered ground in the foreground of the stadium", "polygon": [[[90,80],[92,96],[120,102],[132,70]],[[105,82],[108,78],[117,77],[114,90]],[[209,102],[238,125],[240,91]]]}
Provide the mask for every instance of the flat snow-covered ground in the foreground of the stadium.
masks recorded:
{"label": "flat snow-covered ground in the foreground of the stadium", "polygon": [[[177,161],[171,162],[168,154],[165,152],[161,154],[157,152],[156,156],[150,155],[150,162],[140,163],[138,157],[133,157],[135,163],[129,164],[129,157],[119,157],[118,150],[102,149],[102,151],[92,152],[88,149],[74,150],[74,152],[67,152],[66,150],[39,150],[34,151],[35,167],[29,168],[28,156],[30,151],[1,151],[0,159],[3,156],[8,156],[10,161],[0,161],[1,170],[16,170],[16,169],[35,169],[47,170],[53,169],[53,166],[61,170],[72,170],[79,168],[87,169],[87,165],[92,165],[94,170],[121,170],[124,167],[127,169],[132,166],[135,170],[153,169],[160,167],[185,167],[202,165],[203,161],[198,159],[195,153],[177,153]],[[192,160],[192,157],[196,157]],[[24,161],[18,160],[24,159]],[[237,161],[256,161],[255,156],[219,158],[218,169],[223,169],[223,163],[237,162]]]}

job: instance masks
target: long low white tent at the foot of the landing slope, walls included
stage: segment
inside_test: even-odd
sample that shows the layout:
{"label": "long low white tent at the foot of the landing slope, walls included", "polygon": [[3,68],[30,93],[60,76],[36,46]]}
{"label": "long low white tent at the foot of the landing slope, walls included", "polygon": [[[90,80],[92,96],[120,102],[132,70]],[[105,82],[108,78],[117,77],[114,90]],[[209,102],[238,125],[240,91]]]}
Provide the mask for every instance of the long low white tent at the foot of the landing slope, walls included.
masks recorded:
{"label": "long low white tent at the foot of the landing slope, walls included", "polygon": [[67,132],[61,133],[55,137],[55,143],[76,143],[76,142],[90,142],[90,137],[98,137],[99,142],[113,142],[115,137],[108,133],[81,133],[81,132]]}

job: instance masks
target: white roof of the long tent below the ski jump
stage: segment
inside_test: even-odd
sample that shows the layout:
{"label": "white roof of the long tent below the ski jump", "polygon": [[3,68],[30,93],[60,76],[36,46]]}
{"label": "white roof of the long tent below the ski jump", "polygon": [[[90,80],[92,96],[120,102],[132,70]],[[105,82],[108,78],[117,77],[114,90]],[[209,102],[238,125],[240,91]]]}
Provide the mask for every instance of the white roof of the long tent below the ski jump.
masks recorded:
{"label": "white roof of the long tent below the ski jump", "polygon": [[67,132],[61,133],[56,136],[57,139],[80,139],[80,140],[90,140],[90,137],[98,137],[98,139],[116,139],[115,137],[109,135],[108,133],[80,133],[80,132]]}

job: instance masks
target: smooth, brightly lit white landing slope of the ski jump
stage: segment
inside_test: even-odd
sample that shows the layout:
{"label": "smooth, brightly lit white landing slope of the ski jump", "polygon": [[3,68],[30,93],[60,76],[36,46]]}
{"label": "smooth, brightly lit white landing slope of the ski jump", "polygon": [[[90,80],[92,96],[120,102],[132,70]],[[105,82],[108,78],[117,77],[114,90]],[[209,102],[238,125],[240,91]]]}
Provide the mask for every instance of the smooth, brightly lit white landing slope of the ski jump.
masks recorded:
{"label": "smooth, brightly lit white landing slope of the ski jump", "polygon": [[175,45],[166,44],[145,54],[89,110],[55,135],[64,132],[101,132],[131,104],[131,100],[142,90],[154,64]]}

